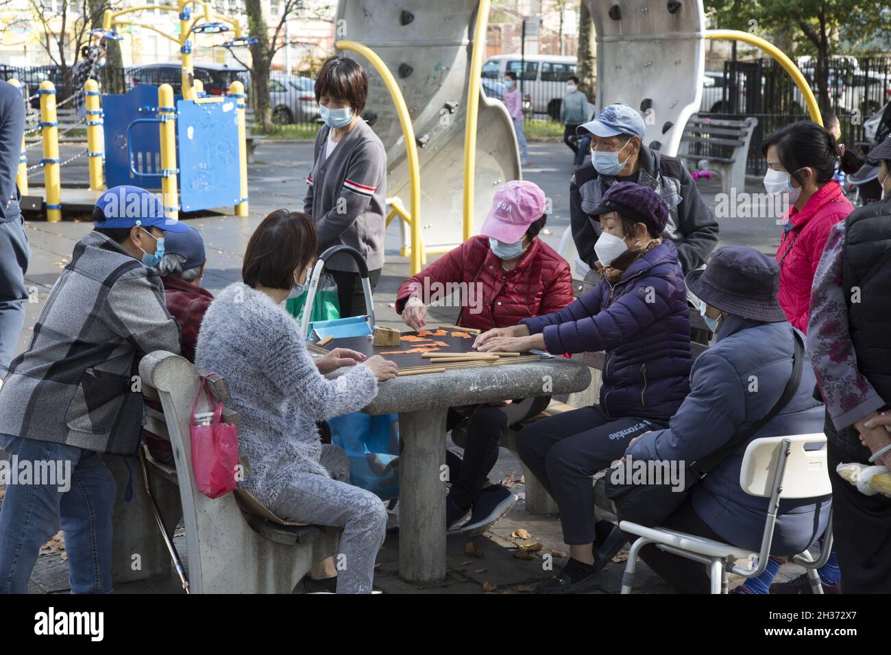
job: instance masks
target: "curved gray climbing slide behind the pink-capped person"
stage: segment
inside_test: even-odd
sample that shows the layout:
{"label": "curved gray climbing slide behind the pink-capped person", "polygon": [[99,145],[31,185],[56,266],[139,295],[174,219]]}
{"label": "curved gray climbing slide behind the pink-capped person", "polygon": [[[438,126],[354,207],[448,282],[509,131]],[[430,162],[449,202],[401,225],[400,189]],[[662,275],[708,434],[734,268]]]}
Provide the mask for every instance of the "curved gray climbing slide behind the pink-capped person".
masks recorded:
{"label": "curved gray climbing slide behind the pink-capped person", "polygon": [[[428,252],[462,242],[464,127],[477,0],[340,0],[339,39],[371,48],[392,71],[411,115],[421,168],[421,235]],[[402,129],[387,88],[361,55],[369,75],[365,111],[387,150],[389,197],[408,201]],[[521,176],[513,123],[504,105],[480,92],[473,233],[495,188]],[[408,231],[405,224],[405,242]]]}

